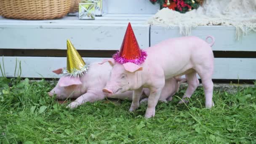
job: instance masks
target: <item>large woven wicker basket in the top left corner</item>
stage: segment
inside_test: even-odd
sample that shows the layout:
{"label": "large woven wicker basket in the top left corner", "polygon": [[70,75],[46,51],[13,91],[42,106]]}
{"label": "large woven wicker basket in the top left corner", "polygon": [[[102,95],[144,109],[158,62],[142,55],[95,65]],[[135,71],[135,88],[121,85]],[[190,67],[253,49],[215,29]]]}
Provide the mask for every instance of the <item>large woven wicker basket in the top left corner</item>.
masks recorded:
{"label": "large woven wicker basket in the top left corner", "polygon": [[0,15],[11,19],[59,19],[67,15],[71,0],[1,0]]}

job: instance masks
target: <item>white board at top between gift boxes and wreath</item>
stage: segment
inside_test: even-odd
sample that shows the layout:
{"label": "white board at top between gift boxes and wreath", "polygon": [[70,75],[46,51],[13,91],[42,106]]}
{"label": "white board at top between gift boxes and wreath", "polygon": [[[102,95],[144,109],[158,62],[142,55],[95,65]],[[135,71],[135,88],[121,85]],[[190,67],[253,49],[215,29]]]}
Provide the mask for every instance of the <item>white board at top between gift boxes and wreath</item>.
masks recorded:
{"label": "white board at top between gift boxes and wreath", "polygon": [[107,13],[157,13],[160,5],[149,0],[108,0]]}

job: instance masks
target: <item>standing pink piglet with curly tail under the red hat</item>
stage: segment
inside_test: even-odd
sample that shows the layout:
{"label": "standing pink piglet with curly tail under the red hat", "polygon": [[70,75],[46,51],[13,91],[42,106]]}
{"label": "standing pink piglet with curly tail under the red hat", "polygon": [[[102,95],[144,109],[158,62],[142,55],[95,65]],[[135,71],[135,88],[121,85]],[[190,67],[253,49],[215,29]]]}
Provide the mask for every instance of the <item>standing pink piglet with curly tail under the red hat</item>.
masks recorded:
{"label": "standing pink piglet with curly tail under the red hat", "polygon": [[[209,36],[211,37],[211,36]],[[208,37],[206,38],[208,39]],[[114,59],[104,60],[111,64],[112,71],[106,87],[102,90],[109,94],[119,94],[133,90],[130,111],[139,107],[142,88],[149,88],[150,94],[145,117],[155,116],[155,106],[165,86],[165,79],[186,75],[188,88],[183,96],[190,98],[199,82],[200,76],[205,91],[205,107],[213,106],[213,51],[211,46],[198,37],[178,37],[165,40],[145,49],[146,60],[140,64],[117,63]],[[181,102],[182,102],[181,101]]]}

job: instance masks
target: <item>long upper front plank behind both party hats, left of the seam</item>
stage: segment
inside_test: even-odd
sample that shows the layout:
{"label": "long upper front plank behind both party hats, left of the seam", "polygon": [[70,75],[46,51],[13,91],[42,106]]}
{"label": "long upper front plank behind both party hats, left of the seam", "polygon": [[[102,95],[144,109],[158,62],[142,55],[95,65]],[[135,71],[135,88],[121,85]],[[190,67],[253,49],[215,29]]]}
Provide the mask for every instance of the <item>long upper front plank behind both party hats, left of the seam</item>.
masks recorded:
{"label": "long upper front plank behind both party hats, left of the seam", "polygon": [[[127,24],[0,25],[0,48],[66,49],[66,40],[70,39],[80,50],[119,50]],[[149,25],[132,27],[140,47],[149,47]]]}

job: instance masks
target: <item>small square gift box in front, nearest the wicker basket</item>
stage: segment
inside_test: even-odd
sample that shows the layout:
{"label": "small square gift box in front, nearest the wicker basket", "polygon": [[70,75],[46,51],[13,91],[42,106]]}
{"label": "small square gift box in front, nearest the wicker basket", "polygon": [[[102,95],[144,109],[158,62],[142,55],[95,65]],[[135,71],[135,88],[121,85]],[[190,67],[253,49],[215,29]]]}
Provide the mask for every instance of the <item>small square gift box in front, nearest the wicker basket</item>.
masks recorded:
{"label": "small square gift box in front, nearest the wicker basket", "polygon": [[79,3],[79,19],[95,19],[95,3]]}

